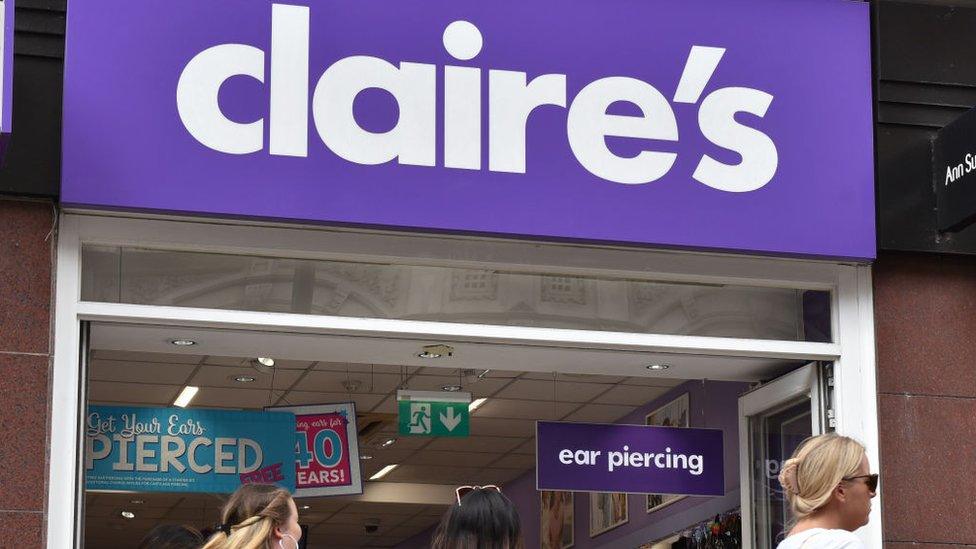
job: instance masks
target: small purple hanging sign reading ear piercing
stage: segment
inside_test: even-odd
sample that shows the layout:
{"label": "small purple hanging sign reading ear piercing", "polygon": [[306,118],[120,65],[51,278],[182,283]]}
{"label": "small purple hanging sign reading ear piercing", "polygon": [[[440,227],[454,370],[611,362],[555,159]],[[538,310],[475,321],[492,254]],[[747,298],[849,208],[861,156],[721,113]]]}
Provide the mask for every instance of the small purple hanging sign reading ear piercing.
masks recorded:
{"label": "small purple hanging sign reading ear piercing", "polygon": [[721,429],[536,423],[536,489],[721,496]]}

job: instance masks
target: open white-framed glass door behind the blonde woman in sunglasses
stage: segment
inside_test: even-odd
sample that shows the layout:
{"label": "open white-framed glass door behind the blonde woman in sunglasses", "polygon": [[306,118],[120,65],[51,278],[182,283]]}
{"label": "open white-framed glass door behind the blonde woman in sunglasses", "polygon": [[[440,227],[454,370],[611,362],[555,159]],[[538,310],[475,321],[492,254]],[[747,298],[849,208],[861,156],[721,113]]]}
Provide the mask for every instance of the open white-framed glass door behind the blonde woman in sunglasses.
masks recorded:
{"label": "open white-framed glass door behind the blonde woman in sunglasses", "polygon": [[824,432],[829,366],[811,363],[739,398],[739,484],[742,541],[774,549],[789,509],[777,477],[807,437]]}

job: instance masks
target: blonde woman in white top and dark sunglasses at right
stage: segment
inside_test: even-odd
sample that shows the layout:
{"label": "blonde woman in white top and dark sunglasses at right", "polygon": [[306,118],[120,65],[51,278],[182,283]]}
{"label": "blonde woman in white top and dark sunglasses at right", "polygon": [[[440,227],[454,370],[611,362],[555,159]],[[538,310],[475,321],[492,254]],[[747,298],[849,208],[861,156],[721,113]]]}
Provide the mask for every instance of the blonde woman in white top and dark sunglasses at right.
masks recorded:
{"label": "blonde woman in white top and dark sunglasses at right", "polygon": [[778,549],[860,549],[854,530],[868,523],[878,475],[864,446],[837,434],[811,437],[783,464],[780,484],[793,527]]}

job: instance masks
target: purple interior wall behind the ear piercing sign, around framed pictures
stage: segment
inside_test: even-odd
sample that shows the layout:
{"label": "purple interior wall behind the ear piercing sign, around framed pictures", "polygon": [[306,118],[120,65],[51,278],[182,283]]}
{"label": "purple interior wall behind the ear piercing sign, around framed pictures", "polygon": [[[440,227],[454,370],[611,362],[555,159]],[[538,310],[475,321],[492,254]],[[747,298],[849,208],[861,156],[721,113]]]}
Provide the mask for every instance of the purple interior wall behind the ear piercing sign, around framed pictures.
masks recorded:
{"label": "purple interior wall behind the ear piercing sign, around framed pictures", "polygon": [[[637,408],[631,414],[621,418],[617,423],[632,423],[643,425],[645,416],[654,409],[663,406],[683,393],[688,393],[688,407],[692,427],[712,427],[722,429],[725,433],[725,492],[726,498],[738,499],[734,496],[739,488],[739,424],[738,397],[749,388],[746,383],[728,381],[688,381],[678,385],[659,398]],[[518,507],[522,519],[522,533],[526,547],[539,547],[539,496],[535,489],[535,470],[526,472],[521,477],[508,483],[504,487],[505,494]],[[591,538],[589,533],[589,495],[583,492],[575,494],[574,539],[576,549],[589,549],[605,546],[633,546],[646,541],[654,541],[661,537],[660,528],[654,528],[661,523],[674,523],[668,532],[678,530],[714,516],[716,503],[721,507],[720,498],[688,497],[675,502],[654,513],[648,514],[646,498],[643,494],[628,496],[627,506],[629,520],[627,523],[613,530]],[[729,504],[729,509],[736,504]],[[646,539],[642,536],[646,532]],[[429,546],[432,530],[423,532],[397,545],[397,549],[421,549]],[[635,539],[643,540],[634,542]]]}

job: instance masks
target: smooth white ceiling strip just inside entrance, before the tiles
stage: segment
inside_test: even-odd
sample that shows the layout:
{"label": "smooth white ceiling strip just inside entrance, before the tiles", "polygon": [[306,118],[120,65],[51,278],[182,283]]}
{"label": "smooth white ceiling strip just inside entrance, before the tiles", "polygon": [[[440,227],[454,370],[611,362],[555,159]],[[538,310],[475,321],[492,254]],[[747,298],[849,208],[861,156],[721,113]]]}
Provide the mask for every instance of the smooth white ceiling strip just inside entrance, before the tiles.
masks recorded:
{"label": "smooth white ceiling strip just inside entrance, before the tiles", "polygon": [[[198,344],[179,349],[169,342],[185,338]],[[447,343],[454,356],[422,359],[424,345]],[[472,369],[504,369],[517,364],[523,372],[600,374],[613,376],[663,377],[676,379],[721,379],[756,381],[783,371],[780,359],[715,357],[624,350],[502,345],[479,342],[426,341],[356,336],[333,336],[277,332],[248,332],[205,328],[174,328],[150,325],[96,325],[92,329],[93,349],[165,353],[173,362],[193,361],[194,356],[272,356],[284,361],[282,368],[303,368],[308,362],[374,364]],[[123,355],[124,356],[124,355]],[[138,358],[138,357],[133,357]],[[235,359],[227,359],[232,364]],[[294,364],[288,360],[295,361]],[[651,372],[647,364],[663,362],[671,369]],[[225,365],[227,365],[225,364]]]}

